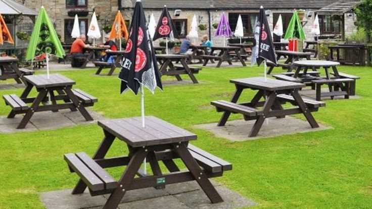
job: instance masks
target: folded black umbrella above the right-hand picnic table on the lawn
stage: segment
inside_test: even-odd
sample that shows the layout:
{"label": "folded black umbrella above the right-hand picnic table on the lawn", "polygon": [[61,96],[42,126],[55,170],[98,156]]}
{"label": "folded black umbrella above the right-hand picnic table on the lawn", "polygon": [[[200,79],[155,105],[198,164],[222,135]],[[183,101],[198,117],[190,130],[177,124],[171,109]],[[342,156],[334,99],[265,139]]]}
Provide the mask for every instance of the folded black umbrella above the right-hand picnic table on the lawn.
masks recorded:
{"label": "folded black umbrella above the right-hand picnic table on the lawn", "polygon": [[258,14],[255,29],[256,46],[253,50],[256,50],[256,53],[252,55],[252,58],[255,56],[254,59],[256,59],[258,66],[260,66],[264,60],[268,60],[276,65],[275,51],[272,43],[270,27],[262,6],[260,8],[260,13]]}

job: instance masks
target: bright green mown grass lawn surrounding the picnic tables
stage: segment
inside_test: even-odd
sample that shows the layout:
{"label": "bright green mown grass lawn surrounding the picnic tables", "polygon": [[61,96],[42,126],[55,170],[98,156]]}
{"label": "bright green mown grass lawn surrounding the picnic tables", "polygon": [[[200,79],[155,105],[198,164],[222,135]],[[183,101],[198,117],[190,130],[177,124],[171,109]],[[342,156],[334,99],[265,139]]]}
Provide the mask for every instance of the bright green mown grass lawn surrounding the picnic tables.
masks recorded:
{"label": "bright green mown grass lawn surrounding the picnic tables", "polygon": [[[95,69],[59,72],[98,97],[92,108],[107,118],[141,115],[140,96],[119,94],[117,76],[96,76]],[[229,99],[235,90],[229,79],[262,76],[262,68],[204,68],[200,84],[165,85],[154,95],[146,92],[146,115],[154,115],[198,134],[193,144],[229,161],[233,170],[215,180],[268,208],[371,208],[372,207],[372,68],[339,67],[360,76],[359,99],[327,100],[315,119],[333,129],[266,139],[231,142],[195,124],[217,122],[209,103]],[[280,73],[274,69],[274,73]],[[183,76],[186,78],[185,76]],[[173,79],[173,78],[166,78]],[[188,78],[186,78],[188,79]],[[0,95],[21,94],[23,89],[1,90]],[[243,92],[250,99],[253,91]],[[0,115],[10,108],[0,102]],[[302,116],[298,116],[303,118]],[[241,119],[234,115],[230,119]],[[72,188],[63,154],[85,151],[92,155],[103,138],[96,124],[15,134],[0,134],[0,208],[43,208],[39,192]],[[127,151],[117,140],[109,156]],[[111,169],[114,177],[123,168]],[[207,197],[205,197],[207,198]]]}

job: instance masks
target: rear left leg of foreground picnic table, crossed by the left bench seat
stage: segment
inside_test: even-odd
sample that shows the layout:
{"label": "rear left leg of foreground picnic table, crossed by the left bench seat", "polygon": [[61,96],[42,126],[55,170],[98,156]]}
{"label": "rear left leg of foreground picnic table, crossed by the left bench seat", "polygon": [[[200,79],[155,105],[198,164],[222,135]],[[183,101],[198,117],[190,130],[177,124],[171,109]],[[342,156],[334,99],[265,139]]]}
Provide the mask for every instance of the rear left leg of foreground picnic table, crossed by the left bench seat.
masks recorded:
{"label": "rear left leg of foreground picnic table, crossed by the left bench seat", "polygon": [[[114,142],[115,136],[104,130],[105,137],[103,138],[100,146],[98,147],[96,153],[93,155],[92,159],[103,159],[106,153],[109,151],[112,143]],[[72,190],[72,194],[82,194],[86,188],[86,184],[79,179],[75,188]]]}

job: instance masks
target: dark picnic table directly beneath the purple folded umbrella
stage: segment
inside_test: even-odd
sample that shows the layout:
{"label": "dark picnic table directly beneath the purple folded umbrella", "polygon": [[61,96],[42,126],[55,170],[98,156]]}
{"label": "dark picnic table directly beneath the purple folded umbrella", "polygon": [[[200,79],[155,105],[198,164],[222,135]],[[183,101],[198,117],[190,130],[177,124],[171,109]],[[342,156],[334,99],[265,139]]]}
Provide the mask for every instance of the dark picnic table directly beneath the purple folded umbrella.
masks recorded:
{"label": "dark picnic table directly beneath the purple folded umbrella", "polygon": [[[217,56],[213,55],[215,50],[220,50]],[[238,46],[211,46],[211,51],[209,55],[202,55],[204,59],[203,66],[208,64],[208,61],[218,60],[217,68],[221,67],[222,62],[227,62],[229,65],[232,65],[232,55],[231,51],[235,52],[235,56],[242,63],[243,66],[247,66],[240,54],[240,47]]]}

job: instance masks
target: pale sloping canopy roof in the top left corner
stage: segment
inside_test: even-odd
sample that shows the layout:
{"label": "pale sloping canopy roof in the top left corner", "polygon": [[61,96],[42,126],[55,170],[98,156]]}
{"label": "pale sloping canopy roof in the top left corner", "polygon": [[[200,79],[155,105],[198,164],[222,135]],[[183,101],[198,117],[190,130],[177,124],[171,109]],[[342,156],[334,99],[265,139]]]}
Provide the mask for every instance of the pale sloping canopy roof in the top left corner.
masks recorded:
{"label": "pale sloping canopy roof in the top left corner", "polygon": [[12,0],[0,0],[0,14],[35,16],[38,13],[35,10],[32,10],[21,4],[13,2]]}

